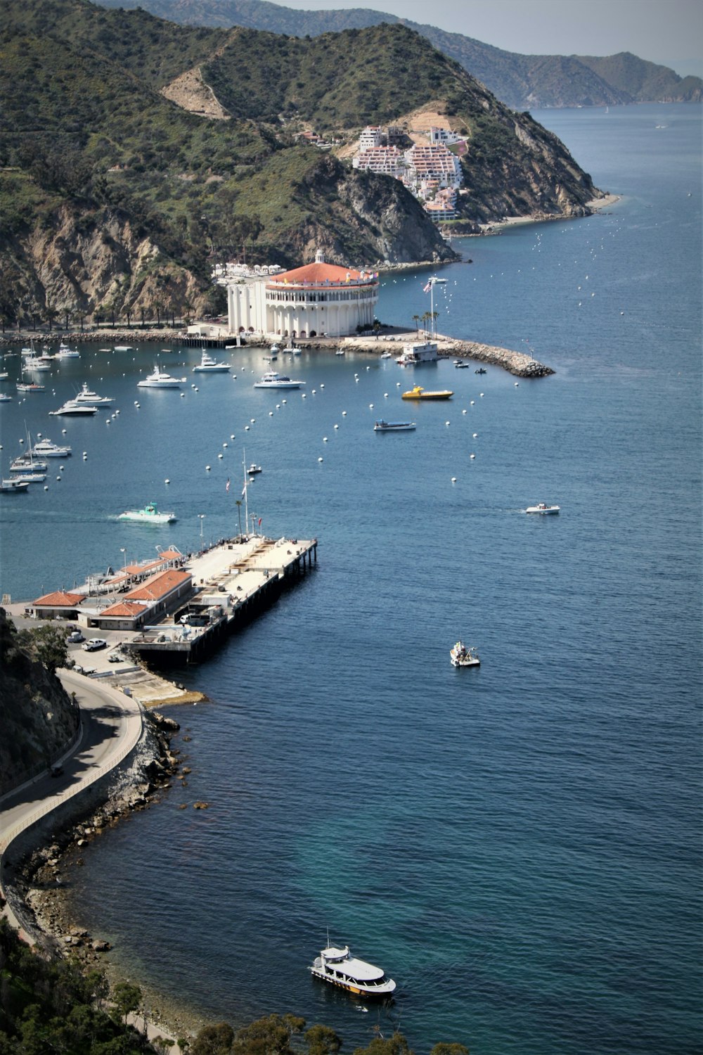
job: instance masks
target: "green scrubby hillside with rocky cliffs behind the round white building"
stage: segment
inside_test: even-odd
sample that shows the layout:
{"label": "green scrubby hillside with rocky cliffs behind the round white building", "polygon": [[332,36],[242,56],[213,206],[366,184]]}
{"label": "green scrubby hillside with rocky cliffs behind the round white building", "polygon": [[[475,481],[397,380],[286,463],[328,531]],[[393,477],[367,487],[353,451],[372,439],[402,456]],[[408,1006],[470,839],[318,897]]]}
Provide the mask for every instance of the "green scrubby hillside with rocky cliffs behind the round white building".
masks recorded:
{"label": "green scrubby hillside with rocky cliffs behind the round white building", "polygon": [[[42,27],[51,26],[51,32]],[[562,143],[407,26],[299,39],[192,28],[86,0],[8,0],[0,27],[0,312],[221,309],[213,258],[451,258],[387,176],[298,143],[431,103],[470,141],[462,218],[580,215]],[[376,58],[374,58],[374,56]]]}

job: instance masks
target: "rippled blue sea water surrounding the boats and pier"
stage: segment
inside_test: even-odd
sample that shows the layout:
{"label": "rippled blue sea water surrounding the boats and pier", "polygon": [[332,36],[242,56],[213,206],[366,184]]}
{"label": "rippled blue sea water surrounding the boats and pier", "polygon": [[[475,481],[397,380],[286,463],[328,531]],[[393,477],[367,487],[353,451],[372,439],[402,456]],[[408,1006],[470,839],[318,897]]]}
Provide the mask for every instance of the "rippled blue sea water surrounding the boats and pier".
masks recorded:
{"label": "rippled blue sea water surrounding the boats and pier", "polygon": [[[136,389],[142,349],[84,346],[55,397],[2,407],[3,464],[25,429],[59,439],[46,410],[84,378],[120,408],[67,420],[78,457],[3,500],[14,597],[235,533],[245,457],[262,530],[319,539],[311,575],[182,673],[210,697],[172,711],[188,786],[74,874],[131,976],[214,1019],[292,1011],[345,1051],[394,1025],[418,1053],[700,1050],[701,111],[535,116],[621,200],[464,239],[434,307],[553,377],[422,368],[453,399],[379,436],[408,414],[392,361],[286,358],[302,399],[253,389],[247,349],[181,399]],[[411,325],[427,273],[386,277],[379,316]],[[178,521],[116,520],[148,500]],[[539,500],[560,516],[526,516]],[[457,636],[480,669],[450,667]],[[390,1009],[310,978],[328,929],[396,979]]]}

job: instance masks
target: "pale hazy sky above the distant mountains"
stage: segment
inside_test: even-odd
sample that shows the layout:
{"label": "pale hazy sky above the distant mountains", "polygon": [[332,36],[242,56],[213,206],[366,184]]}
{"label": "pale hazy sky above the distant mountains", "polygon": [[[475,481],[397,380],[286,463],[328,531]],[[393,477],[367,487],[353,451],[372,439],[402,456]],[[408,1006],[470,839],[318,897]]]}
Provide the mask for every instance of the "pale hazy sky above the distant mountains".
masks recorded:
{"label": "pale hazy sky above the distant mountains", "polygon": [[371,7],[463,33],[509,52],[632,52],[700,76],[702,0],[275,0],[307,11]]}

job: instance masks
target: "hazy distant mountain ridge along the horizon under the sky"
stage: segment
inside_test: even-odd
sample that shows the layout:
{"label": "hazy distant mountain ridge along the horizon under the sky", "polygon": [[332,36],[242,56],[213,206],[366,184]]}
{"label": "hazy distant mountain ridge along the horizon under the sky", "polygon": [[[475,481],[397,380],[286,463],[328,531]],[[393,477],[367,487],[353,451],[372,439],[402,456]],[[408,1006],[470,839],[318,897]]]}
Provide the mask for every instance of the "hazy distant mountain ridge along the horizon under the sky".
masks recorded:
{"label": "hazy distant mountain ridge along the horizon under the sky", "polygon": [[514,110],[629,102],[701,102],[703,99],[700,77],[680,77],[667,66],[647,62],[628,52],[607,58],[519,55],[461,33],[421,25],[367,7],[294,11],[268,0],[100,0],[100,3],[104,7],[142,7],[159,18],[184,25],[242,25],[295,37],[368,28],[380,22],[403,22],[455,59]]}

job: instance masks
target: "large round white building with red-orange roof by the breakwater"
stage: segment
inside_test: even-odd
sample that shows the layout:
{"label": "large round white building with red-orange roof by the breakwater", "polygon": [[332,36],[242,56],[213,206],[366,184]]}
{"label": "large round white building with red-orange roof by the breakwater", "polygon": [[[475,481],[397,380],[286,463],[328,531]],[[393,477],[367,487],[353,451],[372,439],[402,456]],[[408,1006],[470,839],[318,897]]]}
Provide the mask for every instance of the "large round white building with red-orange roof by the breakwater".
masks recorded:
{"label": "large round white building with red-orange roof by the breakwater", "polygon": [[321,250],[291,271],[227,264],[213,279],[227,288],[230,333],[347,337],[373,325],[378,301],[377,272],[327,264]]}

